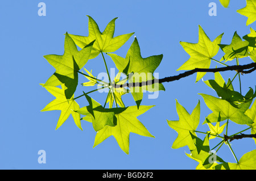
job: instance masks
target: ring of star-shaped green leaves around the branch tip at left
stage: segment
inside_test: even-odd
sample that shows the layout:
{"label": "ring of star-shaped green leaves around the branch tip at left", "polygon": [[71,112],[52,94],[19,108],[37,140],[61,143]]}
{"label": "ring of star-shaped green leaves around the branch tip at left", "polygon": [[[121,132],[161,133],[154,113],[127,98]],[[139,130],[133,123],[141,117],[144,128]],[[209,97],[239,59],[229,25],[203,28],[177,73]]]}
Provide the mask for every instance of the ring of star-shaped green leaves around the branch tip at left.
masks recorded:
{"label": "ring of star-shaped green leaves around the branch tip at left", "polygon": [[[137,79],[136,75],[144,73],[146,79],[143,81],[150,81],[154,79],[153,73],[162,61],[163,55],[150,56],[142,58],[141,49],[137,38],[135,37],[131,44],[126,57],[123,58],[117,54],[111,53],[122,47],[123,44],[134,33],[127,33],[113,37],[115,30],[115,20],[109,22],[104,32],[100,32],[97,23],[90,16],[89,18],[89,35],[79,36],[65,33],[64,54],[55,55],[50,54],[44,56],[46,60],[55,69],[55,73],[49,77],[46,83],[41,84],[47,91],[56,97],[49,103],[42,111],[61,110],[59,121],[56,129],[58,129],[69,115],[72,115],[75,124],[82,130],[81,120],[92,123],[94,130],[97,132],[94,146],[100,144],[109,136],[114,136],[120,148],[129,154],[129,134],[130,132],[140,134],[142,136],[154,137],[147,131],[146,127],[137,119],[137,116],[148,111],[153,106],[141,106],[143,98],[143,91],[159,91],[164,90],[161,83],[154,83],[152,86],[142,86],[138,90],[136,87],[125,89],[117,87],[123,83],[142,82],[142,79]],[[77,50],[77,46],[81,50]],[[103,53],[107,53],[112,58],[119,73],[114,78],[110,79],[108,66]],[[101,54],[106,71],[108,73],[109,82],[104,82],[97,79],[84,68],[86,73],[80,71],[88,62]],[[138,74],[130,74],[138,73]],[[97,89],[89,92],[83,92],[82,95],[74,98],[74,93],[78,85],[79,74],[86,77],[89,82],[82,83],[83,86],[97,86]],[[120,80],[121,74],[125,75],[125,79]],[[134,81],[135,80],[135,81]],[[61,89],[57,86],[61,86]],[[100,86],[100,88],[98,87]],[[91,92],[108,89],[108,95],[104,106],[91,98],[88,94]],[[122,101],[122,95],[131,92],[137,106],[126,107]],[[87,106],[81,107],[75,101],[78,98],[86,98]],[[109,108],[105,108],[106,104]],[[115,108],[113,104],[115,103]],[[81,117],[82,115],[82,117]]]}

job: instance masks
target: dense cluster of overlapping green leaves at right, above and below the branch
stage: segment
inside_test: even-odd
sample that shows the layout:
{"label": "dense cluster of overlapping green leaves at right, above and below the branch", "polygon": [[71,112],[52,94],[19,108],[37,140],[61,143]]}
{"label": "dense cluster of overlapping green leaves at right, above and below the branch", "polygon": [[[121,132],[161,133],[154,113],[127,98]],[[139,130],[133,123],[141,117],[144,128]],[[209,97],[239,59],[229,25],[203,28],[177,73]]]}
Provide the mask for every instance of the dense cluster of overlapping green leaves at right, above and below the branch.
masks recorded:
{"label": "dense cluster of overlapping green leaves at right, above and below the branch", "polygon": [[[251,28],[250,31],[248,35],[243,36],[244,41],[237,32],[235,32],[231,44],[226,45],[221,44],[223,34],[218,36],[214,41],[210,41],[209,37],[203,31],[203,28],[199,26],[198,43],[180,43],[191,57],[178,70],[209,68],[212,60],[225,66],[228,66],[225,64],[226,61],[236,61],[238,65],[239,60],[245,57],[250,57],[252,61],[256,62],[256,31],[254,31],[253,28]],[[224,55],[220,61],[217,61],[213,59],[213,57],[216,56],[220,48],[224,52]],[[188,146],[191,151],[190,154],[187,154],[188,157],[199,162],[197,169],[256,169],[256,150],[244,154],[238,161],[227,139],[227,137],[232,137],[249,129],[251,130],[251,134],[256,133],[256,124],[254,123],[256,121],[256,102],[253,103],[256,92],[250,88],[246,95],[242,95],[241,90],[240,92],[234,90],[232,82],[237,75],[241,87],[240,74],[241,73],[237,72],[232,80],[229,78],[228,81],[225,81],[221,74],[217,72],[214,74],[214,79],[204,81],[204,83],[217,94],[217,97],[199,94],[203,97],[207,107],[212,111],[212,113],[205,117],[203,123],[208,125],[208,132],[197,130],[200,122],[200,102],[191,114],[176,102],[179,121],[167,120],[168,125],[178,133],[176,140],[172,144],[172,148],[177,149]],[[196,81],[199,81],[204,75],[205,73],[197,73]],[[252,103],[253,105],[251,106]],[[248,128],[228,136],[229,121],[233,121],[238,125],[247,125]],[[220,125],[220,123],[224,124]],[[224,132],[224,129],[226,129],[224,136],[220,136],[222,132]],[[205,134],[204,140],[201,140],[196,133]],[[210,148],[209,140],[214,138],[220,138],[221,141],[216,146],[213,146],[213,148]],[[216,155],[217,151],[224,143],[232,150],[236,163],[225,162],[224,159]],[[214,149],[217,150],[213,151]],[[214,155],[212,155],[212,153]]]}

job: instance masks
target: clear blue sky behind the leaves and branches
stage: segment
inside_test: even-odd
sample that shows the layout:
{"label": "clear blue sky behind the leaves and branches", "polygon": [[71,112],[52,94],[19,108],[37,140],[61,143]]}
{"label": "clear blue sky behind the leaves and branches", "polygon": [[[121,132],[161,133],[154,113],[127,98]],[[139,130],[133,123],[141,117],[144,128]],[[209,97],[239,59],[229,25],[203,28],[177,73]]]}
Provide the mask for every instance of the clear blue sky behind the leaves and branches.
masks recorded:
{"label": "clear blue sky behind the leaves and branches", "polygon": [[[46,3],[46,16],[38,15],[39,2]],[[216,2],[217,16],[209,16],[210,2]],[[135,32],[142,57],[163,54],[162,63],[155,71],[159,78],[176,75],[181,73],[176,69],[189,58],[179,42],[197,43],[199,24],[211,40],[224,32],[222,44],[230,44],[235,31],[242,37],[250,32],[250,27],[255,29],[255,23],[246,26],[247,18],[236,12],[245,5],[245,0],[231,1],[228,9],[224,9],[217,0],[1,1],[0,169],[195,169],[197,162],[185,155],[188,148],[171,148],[177,133],[168,127],[166,120],[179,119],[175,99],[189,113],[200,100],[201,123],[211,112],[198,93],[215,95],[215,92],[203,81],[195,83],[196,74],[164,83],[166,91],[160,91],[158,99],[144,96],[142,104],[155,107],[138,119],[155,138],[131,133],[130,154],[126,155],[114,137],[93,148],[96,132],[85,121],[82,121],[84,131],[76,127],[72,117],[55,131],[60,111],[40,112],[55,99],[39,85],[55,71],[43,56],[64,53],[65,32],[88,36],[86,15],[96,20],[101,31],[110,20],[119,17],[115,36]],[[134,36],[115,53],[124,57]],[[216,59],[221,58],[221,53],[220,50]],[[106,59],[109,68],[114,68],[110,57]],[[244,58],[241,64],[249,62]],[[213,62],[211,67],[216,65]],[[105,71],[101,57],[89,61],[86,69],[93,69],[96,74]],[[228,79],[234,74],[229,71],[223,76]],[[248,87],[254,88],[252,78],[255,75],[242,76],[243,93],[249,90]],[[86,81],[82,78],[80,83]],[[204,77],[212,78],[213,74]],[[238,90],[237,81],[234,87]],[[79,87],[75,95],[81,95],[84,89]],[[106,94],[96,93],[92,97],[104,103]],[[123,99],[127,105],[135,105],[131,95],[125,95]],[[78,102],[86,104],[85,99]],[[207,126],[200,124],[199,128],[207,131]],[[230,133],[241,129],[243,127],[230,129]],[[255,144],[251,139],[243,139],[234,142],[232,148],[239,159],[247,151],[255,149]],[[46,151],[45,164],[38,163],[39,150]],[[226,161],[235,162],[228,146],[223,146],[218,155]]]}

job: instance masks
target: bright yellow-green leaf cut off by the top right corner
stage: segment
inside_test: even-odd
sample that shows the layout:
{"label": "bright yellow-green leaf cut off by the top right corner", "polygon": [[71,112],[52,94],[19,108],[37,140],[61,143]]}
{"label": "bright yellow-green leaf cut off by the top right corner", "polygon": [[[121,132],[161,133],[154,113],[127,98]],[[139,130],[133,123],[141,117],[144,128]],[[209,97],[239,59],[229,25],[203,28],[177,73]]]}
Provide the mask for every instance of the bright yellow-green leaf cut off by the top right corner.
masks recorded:
{"label": "bright yellow-green leaf cut off by the top right corner", "polygon": [[256,20],[256,2],[255,0],[246,0],[246,6],[240,10],[237,10],[243,16],[247,16],[246,26],[255,22]]}

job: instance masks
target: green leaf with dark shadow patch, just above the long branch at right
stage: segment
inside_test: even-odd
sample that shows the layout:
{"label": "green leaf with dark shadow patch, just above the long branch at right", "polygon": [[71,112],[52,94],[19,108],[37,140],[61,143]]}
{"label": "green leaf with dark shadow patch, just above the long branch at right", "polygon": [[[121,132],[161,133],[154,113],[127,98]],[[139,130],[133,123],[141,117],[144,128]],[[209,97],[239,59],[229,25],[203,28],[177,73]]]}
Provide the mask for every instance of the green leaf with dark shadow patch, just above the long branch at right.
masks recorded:
{"label": "green leaf with dark shadow patch, just above the long branch at right", "polygon": [[220,48],[225,55],[221,58],[221,61],[230,61],[234,58],[243,58],[249,56],[248,53],[248,41],[243,41],[237,32],[234,32],[232,42],[230,45],[220,44]]}

